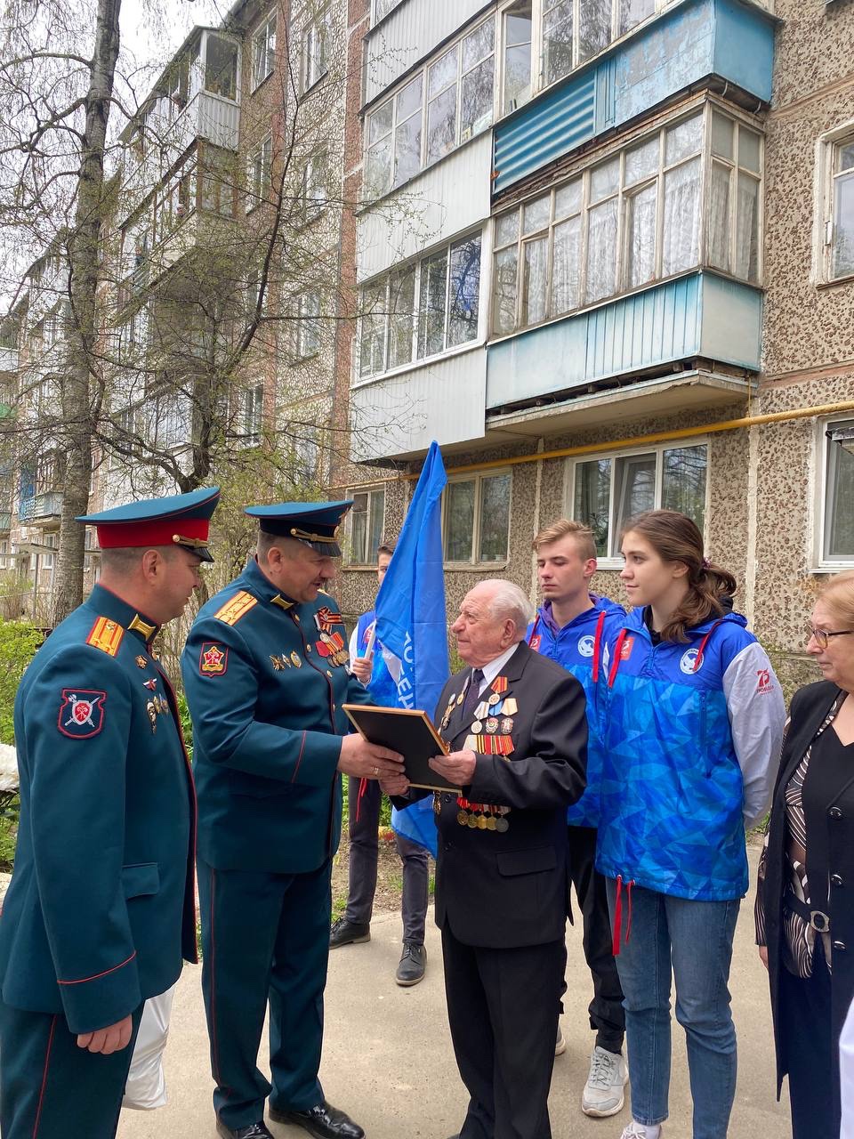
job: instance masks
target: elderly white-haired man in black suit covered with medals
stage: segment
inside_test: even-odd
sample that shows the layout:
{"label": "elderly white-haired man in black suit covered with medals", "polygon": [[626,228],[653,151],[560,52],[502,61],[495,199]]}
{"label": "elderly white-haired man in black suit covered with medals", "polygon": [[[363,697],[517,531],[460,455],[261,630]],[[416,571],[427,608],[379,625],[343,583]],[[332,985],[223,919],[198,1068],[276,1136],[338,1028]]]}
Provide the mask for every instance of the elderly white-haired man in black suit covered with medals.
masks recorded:
{"label": "elderly white-haired man in black suit covered with medals", "polygon": [[[506,581],[470,590],[452,626],[469,667],[436,711],[450,747],[437,793],[436,924],[447,1017],[470,1100],[461,1139],[549,1139],[566,966],[566,809],[585,786],[578,681],[524,642],[533,616]],[[384,780],[389,793],[405,786]],[[420,794],[414,788],[408,797]],[[404,801],[399,798],[399,804]]]}

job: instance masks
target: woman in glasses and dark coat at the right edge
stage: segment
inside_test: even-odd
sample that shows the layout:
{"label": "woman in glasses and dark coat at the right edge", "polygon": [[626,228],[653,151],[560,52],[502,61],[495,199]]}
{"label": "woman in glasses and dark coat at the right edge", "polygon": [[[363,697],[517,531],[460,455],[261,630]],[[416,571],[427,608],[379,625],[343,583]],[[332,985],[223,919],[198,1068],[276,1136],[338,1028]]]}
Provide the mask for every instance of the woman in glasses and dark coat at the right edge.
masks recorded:
{"label": "woman in glasses and dark coat at the right edge", "polygon": [[793,1136],[838,1139],[838,1043],[854,994],[854,571],[824,587],[808,637],[824,679],[791,700],[759,862],[756,941]]}

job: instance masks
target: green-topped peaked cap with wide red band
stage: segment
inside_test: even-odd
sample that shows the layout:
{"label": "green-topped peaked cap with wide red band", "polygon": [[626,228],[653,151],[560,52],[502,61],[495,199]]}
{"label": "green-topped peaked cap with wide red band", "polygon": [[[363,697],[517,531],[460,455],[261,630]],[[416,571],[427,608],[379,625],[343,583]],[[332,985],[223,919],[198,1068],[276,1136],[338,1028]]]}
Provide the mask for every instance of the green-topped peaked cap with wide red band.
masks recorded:
{"label": "green-topped peaked cap with wide red band", "polygon": [[102,550],[183,546],[203,562],[213,562],[207,535],[219,500],[219,486],[202,486],[188,494],[129,502],[76,521],[96,527]]}

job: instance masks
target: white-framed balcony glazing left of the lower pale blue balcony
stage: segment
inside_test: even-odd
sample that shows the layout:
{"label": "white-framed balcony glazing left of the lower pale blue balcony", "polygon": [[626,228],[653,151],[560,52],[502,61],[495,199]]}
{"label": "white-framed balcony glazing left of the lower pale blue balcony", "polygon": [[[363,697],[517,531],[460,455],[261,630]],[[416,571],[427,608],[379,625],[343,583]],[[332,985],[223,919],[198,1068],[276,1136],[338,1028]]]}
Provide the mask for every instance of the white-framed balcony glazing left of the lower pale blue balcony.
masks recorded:
{"label": "white-framed balcony glazing left of the lower pale blue balcony", "polygon": [[360,377],[476,339],[479,289],[479,233],[396,269],[366,288]]}

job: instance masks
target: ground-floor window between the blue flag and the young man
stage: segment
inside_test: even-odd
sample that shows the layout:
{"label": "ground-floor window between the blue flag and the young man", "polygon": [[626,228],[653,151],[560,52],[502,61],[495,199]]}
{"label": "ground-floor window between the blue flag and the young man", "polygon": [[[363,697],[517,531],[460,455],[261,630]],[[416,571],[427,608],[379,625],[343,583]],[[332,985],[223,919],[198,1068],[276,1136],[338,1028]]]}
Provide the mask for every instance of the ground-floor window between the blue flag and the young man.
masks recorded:
{"label": "ground-floor window between the blue flag and the young man", "polygon": [[510,486],[509,472],[449,480],[442,494],[445,562],[507,562]]}

